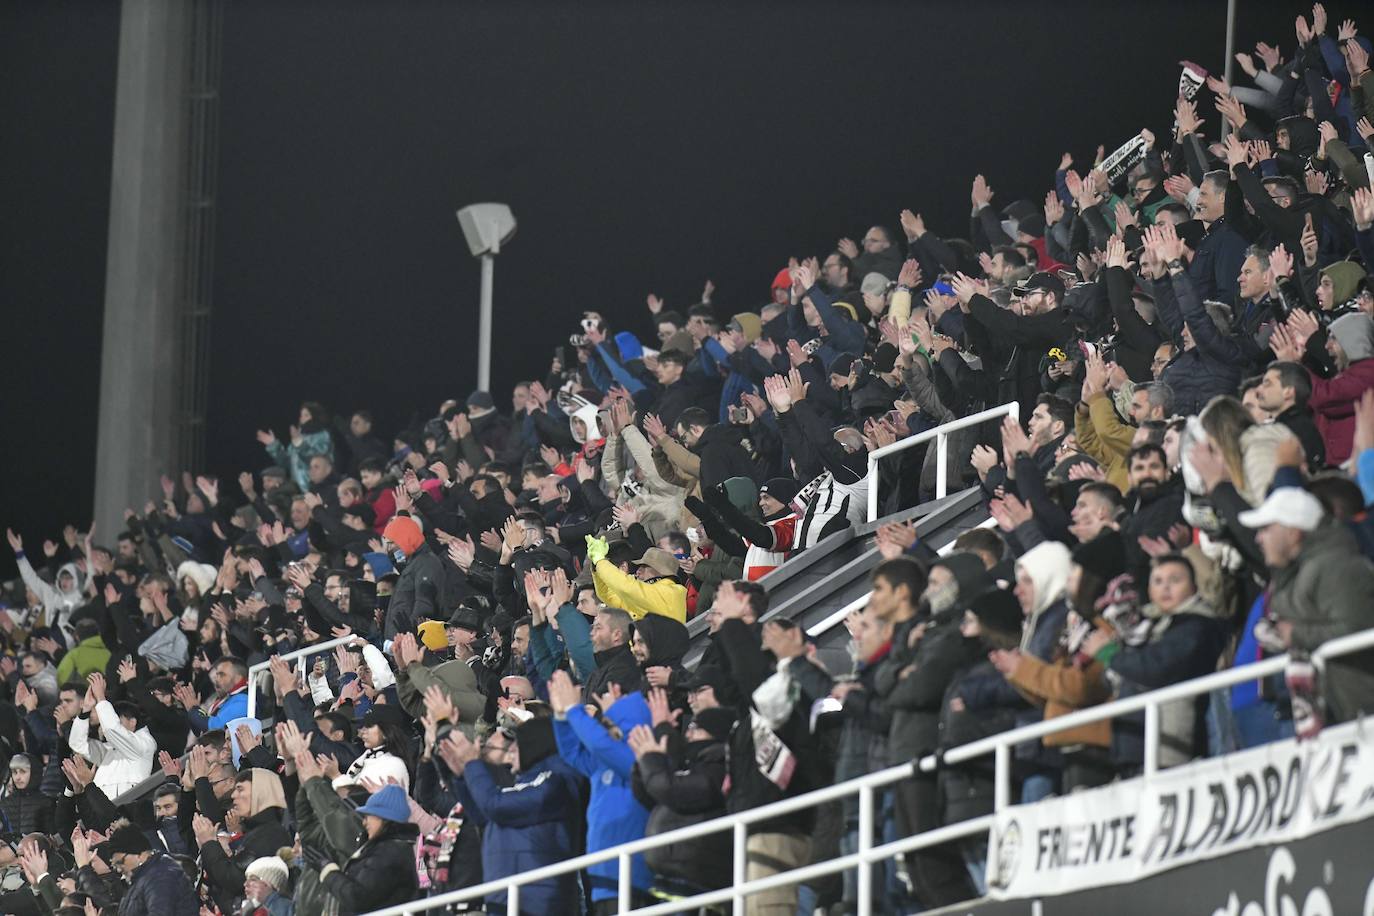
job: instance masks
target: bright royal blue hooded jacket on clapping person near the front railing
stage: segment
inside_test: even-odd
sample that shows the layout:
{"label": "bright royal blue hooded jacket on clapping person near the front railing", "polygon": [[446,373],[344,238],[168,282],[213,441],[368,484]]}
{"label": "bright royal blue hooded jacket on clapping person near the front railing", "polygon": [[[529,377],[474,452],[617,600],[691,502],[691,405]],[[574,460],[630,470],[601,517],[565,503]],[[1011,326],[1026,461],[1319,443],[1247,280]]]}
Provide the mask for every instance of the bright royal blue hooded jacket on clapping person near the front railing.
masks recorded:
{"label": "bright royal blue hooded jacket on clapping person near the front railing", "polygon": [[[636,725],[649,725],[649,703],[643,694],[622,696],[606,717],[621,735],[629,735]],[[644,836],[649,810],[635,799],[631,773],[635,753],[624,739],[617,739],[595,721],[581,706],[567,710],[567,718],[554,721],[558,753],[592,783],[592,798],[587,806],[587,851],[610,849]],[[613,900],[617,894],[620,865],[613,858],[587,869],[591,875],[592,901]],[[643,856],[635,856],[631,883],[649,890],[653,879]]]}

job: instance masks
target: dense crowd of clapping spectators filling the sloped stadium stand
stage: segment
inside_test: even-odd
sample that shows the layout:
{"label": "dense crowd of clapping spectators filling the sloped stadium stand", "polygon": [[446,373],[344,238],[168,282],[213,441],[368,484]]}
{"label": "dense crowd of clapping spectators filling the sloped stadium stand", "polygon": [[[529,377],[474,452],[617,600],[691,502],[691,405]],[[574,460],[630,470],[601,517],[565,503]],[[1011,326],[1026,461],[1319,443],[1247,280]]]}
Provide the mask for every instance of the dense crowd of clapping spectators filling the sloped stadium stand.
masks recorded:
{"label": "dense crowd of clapping spectators filling the sloped stadium stand", "polygon": [[[754,308],[708,284],[639,327],[570,316],[508,405],[383,435],[306,402],[261,467],[164,478],[121,531],[10,531],[0,911],[365,913],[1271,654],[1285,676],[1165,709],[1161,765],[1374,710],[1370,654],[1308,659],[1374,626],[1374,73],[1326,19],[1237,55],[1243,87],[1186,65],[1172,132],[1063,154],[1043,199],[977,176],[962,235],[903,210]],[[955,434],[945,468],[995,525],[943,556],[881,526],[851,665],[767,618],[769,570],[866,520],[871,449],[1009,401],[1025,423]],[[936,463],[885,460],[882,514]],[[1118,717],[1022,746],[1015,791],[1142,761]],[[878,839],[992,803],[991,759],[943,766],[883,798]],[[749,876],[857,829],[856,803],[761,821]],[[985,853],[875,868],[881,912],[977,895]],[[635,857],[635,900],[721,887],[731,856],[725,832]],[[521,912],[614,912],[617,876]]]}

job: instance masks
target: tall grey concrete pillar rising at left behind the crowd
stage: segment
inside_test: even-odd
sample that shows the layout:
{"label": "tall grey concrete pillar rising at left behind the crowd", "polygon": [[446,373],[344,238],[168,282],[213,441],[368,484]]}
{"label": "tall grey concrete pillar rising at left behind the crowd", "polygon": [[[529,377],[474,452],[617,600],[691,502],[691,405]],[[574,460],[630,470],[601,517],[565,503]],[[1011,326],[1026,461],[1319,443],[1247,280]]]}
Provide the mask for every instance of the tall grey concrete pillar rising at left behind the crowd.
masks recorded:
{"label": "tall grey concrete pillar rising at left behind the crowd", "polygon": [[142,511],[176,474],[180,334],[176,325],[188,4],[124,0],[110,180],[95,519],[113,547],[125,507]]}

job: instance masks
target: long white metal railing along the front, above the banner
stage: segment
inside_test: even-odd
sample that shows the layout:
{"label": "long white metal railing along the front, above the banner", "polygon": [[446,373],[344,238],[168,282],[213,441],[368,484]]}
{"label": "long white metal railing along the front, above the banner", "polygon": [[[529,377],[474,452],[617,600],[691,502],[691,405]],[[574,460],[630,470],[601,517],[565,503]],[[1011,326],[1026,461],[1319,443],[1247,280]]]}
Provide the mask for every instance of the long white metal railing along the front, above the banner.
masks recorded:
{"label": "long white metal railing along the front, above the banner", "polygon": [[[1369,648],[1374,648],[1374,629],[1362,630],[1359,633],[1352,633],[1349,636],[1342,636],[1327,641],[1315,652],[1312,652],[1312,662],[1320,669],[1325,667],[1326,662],[1331,658],[1349,655],[1352,652]],[[976,817],[973,820],[960,821],[958,824],[940,827],[937,829],[926,831],[923,834],[908,836],[905,839],[886,843],[882,846],[874,846],[872,829],[874,829],[875,788],[881,788],[883,786],[889,786],[903,779],[908,779],[916,772],[916,768],[919,768],[921,772],[929,773],[934,772],[938,766],[962,764],[978,757],[984,757],[987,754],[992,754],[995,762],[995,779],[996,779],[993,810],[1000,813],[1003,809],[1011,805],[1011,750],[1017,744],[1039,740],[1046,735],[1052,735],[1055,732],[1079,728],[1090,722],[1098,722],[1105,718],[1114,718],[1125,713],[1136,713],[1140,710],[1145,711],[1145,779],[1150,779],[1158,770],[1160,707],[1164,703],[1171,703],[1180,699],[1189,699],[1193,696],[1210,692],[1213,689],[1234,687],[1235,684],[1243,684],[1246,681],[1253,681],[1261,677],[1268,677],[1271,674],[1278,674],[1283,670],[1286,663],[1287,663],[1287,655],[1279,655],[1260,662],[1252,662],[1249,665],[1243,665],[1239,667],[1216,672],[1213,674],[1184,681],[1182,684],[1162,687],[1160,689],[1150,691],[1147,694],[1139,694],[1136,696],[1113,700],[1110,703],[1103,703],[1101,706],[1094,706],[1090,709],[1079,710],[1076,713],[1069,713],[1068,715],[1061,715],[1052,720],[1047,720],[1044,722],[1025,725],[1022,728],[1017,728],[1010,732],[1003,732],[1000,735],[993,735],[991,737],[980,739],[977,742],[970,742],[969,744],[963,744],[960,747],[955,747],[947,751],[940,758],[937,758],[936,755],[925,757],[919,761],[912,761],[911,764],[890,766],[888,769],[878,770],[875,773],[868,773],[867,776],[860,776],[859,779],[852,779],[849,781],[838,783],[827,788],[820,788],[812,792],[807,792],[805,795],[797,795],[796,798],[774,802],[772,805],[765,805],[763,808],[756,808],[747,812],[739,812],[736,814],[719,817],[716,820],[705,821],[702,824],[694,824],[691,827],[683,827],[675,831],[669,831],[666,834],[658,834],[657,836],[638,839],[631,843],[614,846],[611,849],[603,849],[596,853],[588,853],[585,856],[578,856],[577,858],[570,858],[563,862],[556,862],[554,865],[536,868],[533,871],[523,872],[521,875],[513,875],[510,878],[485,882],[474,887],[466,887],[462,890],[449,891],[447,894],[438,894],[436,897],[429,897],[425,900],[416,900],[408,904],[401,904],[398,906],[392,906],[389,909],[378,911],[374,916],[403,916],[409,913],[422,913],[438,906],[447,906],[448,904],[477,900],[481,897],[486,897],[488,894],[495,894],[502,891],[506,891],[507,894],[507,901],[506,901],[507,913],[510,913],[510,916],[518,916],[519,889],[522,886],[545,880],[550,878],[556,878],[559,875],[566,875],[569,872],[581,871],[591,865],[598,865],[600,862],[607,862],[610,860],[617,860],[620,862],[620,880],[618,880],[620,913],[636,913],[638,916],[655,916],[658,913],[677,913],[683,911],[699,909],[702,906],[731,901],[735,915],[742,916],[745,912],[745,900],[750,894],[768,890],[772,887],[797,884],[811,878],[830,875],[834,872],[846,871],[849,868],[859,869],[857,886],[856,886],[857,909],[861,913],[871,912],[872,876],[871,871],[868,868],[864,868],[864,865],[882,861],[897,853],[911,851],[915,849],[925,849],[927,846],[936,846],[940,843],[947,843],[949,840],[981,834],[992,825],[995,817],[995,814],[985,814],[982,817]],[[823,802],[831,802],[831,801],[838,801],[841,798],[848,798],[849,795],[859,795],[859,850],[856,853],[826,860],[822,862],[815,862],[789,872],[771,875],[768,878],[746,880],[746,864],[747,864],[746,854],[747,854],[747,836],[750,824],[778,817],[779,814],[804,810],[815,805],[820,805]],[[730,887],[697,894],[682,900],[654,904],[651,906],[632,909],[631,905],[632,856],[643,853],[644,850],[649,849],[666,846],[669,843],[680,843],[683,840],[697,839],[701,836],[709,836],[712,834],[719,834],[727,829],[732,831],[735,842],[732,882]]]}

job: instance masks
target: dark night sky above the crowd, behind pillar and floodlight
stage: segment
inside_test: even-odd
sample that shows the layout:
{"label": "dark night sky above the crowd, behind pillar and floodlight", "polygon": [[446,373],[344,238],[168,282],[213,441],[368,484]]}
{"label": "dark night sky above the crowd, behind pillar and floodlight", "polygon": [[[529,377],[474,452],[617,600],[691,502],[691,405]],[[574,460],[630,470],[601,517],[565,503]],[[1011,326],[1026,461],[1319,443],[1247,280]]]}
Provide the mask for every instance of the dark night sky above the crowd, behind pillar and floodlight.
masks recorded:
{"label": "dark night sky above the crowd, behind pillar and floodlight", "polygon": [[[1242,19],[1241,47],[1290,48],[1292,15]],[[1178,60],[1220,67],[1224,16],[1221,0],[229,0],[206,470],[261,467],[254,430],[284,435],[302,400],[368,407],[390,433],[467,396],[460,206],[503,201],[519,222],[496,264],[507,402],[581,309],[644,335],[646,293],[686,306],[708,277],[723,317],[758,308],[789,255],[904,206],[966,235],[976,172],[995,203],[1040,199],[1063,150],[1167,135]],[[92,503],[117,45],[113,1],[0,5],[0,523],[33,542]]]}

